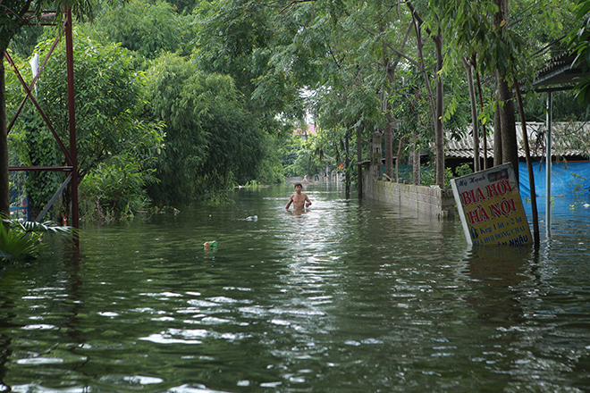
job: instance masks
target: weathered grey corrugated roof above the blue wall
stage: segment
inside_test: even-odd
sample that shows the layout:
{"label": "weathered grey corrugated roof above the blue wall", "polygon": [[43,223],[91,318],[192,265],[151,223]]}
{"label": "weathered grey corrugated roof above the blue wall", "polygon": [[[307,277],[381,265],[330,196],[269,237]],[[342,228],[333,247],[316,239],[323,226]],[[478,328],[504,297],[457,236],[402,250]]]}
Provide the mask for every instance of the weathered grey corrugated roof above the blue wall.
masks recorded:
{"label": "weathered grey corrugated roof above the blue wall", "polygon": [[[556,123],[553,125],[553,133],[552,133],[552,144],[554,146],[553,155],[565,155],[565,156],[573,156],[573,155],[586,155],[586,152],[577,150],[568,146],[568,142],[564,141],[562,138],[559,138],[559,131],[566,130],[567,127],[571,127],[574,124],[578,130],[580,130],[584,135],[588,136],[590,139],[590,124],[587,123]],[[518,143],[518,157],[525,158],[525,149],[522,143],[522,127],[520,122],[516,123],[517,128],[517,143]],[[456,140],[451,138],[451,133],[446,133],[446,144],[444,155],[448,158],[465,158],[465,159],[473,159],[474,156],[474,147],[473,147],[473,137],[472,137],[472,128],[469,126],[467,128],[466,136],[463,138]],[[486,130],[489,130],[487,128]],[[556,134],[558,134],[558,138],[556,138]],[[533,157],[542,157],[545,155],[545,123],[542,122],[527,122],[527,135],[528,135],[528,144],[530,149],[530,154]],[[480,157],[484,157],[484,140],[483,138],[479,139],[479,155]],[[493,130],[491,131],[490,135],[487,138],[487,157],[493,158]]]}

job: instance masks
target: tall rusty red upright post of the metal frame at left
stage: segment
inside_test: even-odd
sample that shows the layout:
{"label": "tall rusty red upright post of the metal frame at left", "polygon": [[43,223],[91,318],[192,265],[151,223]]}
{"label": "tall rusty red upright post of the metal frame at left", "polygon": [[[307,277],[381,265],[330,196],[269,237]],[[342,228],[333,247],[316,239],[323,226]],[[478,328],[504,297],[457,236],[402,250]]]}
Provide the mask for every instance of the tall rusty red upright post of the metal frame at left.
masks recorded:
{"label": "tall rusty red upright post of the metal frame at left", "polygon": [[[76,147],[76,113],[74,102],[74,74],[73,74],[73,43],[72,43],[72,9],[66,7],[65,22],[65,50],[68,79],[68,115],[70,121],[70,155],[72,157],[72,227],[80,227],[78,205],[78,149]],[[76,238],[76,247],[79,240]]]}

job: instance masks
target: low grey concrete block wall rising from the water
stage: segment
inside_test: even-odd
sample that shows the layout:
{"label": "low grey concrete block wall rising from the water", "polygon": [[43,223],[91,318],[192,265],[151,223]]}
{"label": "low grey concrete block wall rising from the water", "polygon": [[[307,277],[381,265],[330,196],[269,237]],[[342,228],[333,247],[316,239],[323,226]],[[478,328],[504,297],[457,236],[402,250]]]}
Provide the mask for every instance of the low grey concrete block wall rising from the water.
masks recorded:
{"label": "low grey concrete block wall rising from the water", "polygon": [[373,180],[372,176],[365,176],[364,180],[364,191],[368,198],[414,208],[419,212],[433,214],[439,218],[455,215],[455,198],[452,195],[452,189]]}

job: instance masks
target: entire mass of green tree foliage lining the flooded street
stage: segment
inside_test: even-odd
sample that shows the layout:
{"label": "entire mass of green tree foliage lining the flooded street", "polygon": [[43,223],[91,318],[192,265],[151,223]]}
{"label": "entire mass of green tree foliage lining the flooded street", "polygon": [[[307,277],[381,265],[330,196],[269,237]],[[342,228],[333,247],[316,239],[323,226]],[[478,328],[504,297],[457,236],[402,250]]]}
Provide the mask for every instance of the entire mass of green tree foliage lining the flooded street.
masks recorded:
{"label": "entire mass of green tree foliage lining the flooded street", "polygon": [[[97,214],[109,217],[137,212],[141,207],[135,202],[145,201],[139,189],[146,185],[158,203],[204,195],[223,199],[220,192],[235,183],[252,179],[270,183],[283,172],[309,175],[344,162],[343,141],[352,140],[350,151],[354,152],[355,138],[348,137],[362,127],[366,139],[369,132],[383,128],[388,117],[401,122],[395,135],[398,140],[406,138],[426,152],[433,146],[433,120],[438,119],[430,101],[434,85],[429,86],[436,77],[444,76],[445,90],[454,92],[443,98],[444,128],[462,130],[468,123],[468,102],[459,59],[475,54],[476,71],[483,80],[492,80],[498,66],[519,78],[528,71],[524,64],[535,66],[544,57],[525,59],[527,51],[561,37],[570,22],[570,1],[525,0],[510,3],[510,23],[497,25],[494,3],[199,0],[193,3],[190,20],[181,13],[193,4],[184,0],[174,5],[133,0],[112,10],[105,7],[96,24],[80,25],[80,31],[92,39],[81,34],[74,38],[79,170],[80,179],[88,178],[80,187],[89,189],[88,197],[92,192],[100,195],[93,199],[94,206],[102,209]],[[38,11],[46,4],[31,6]],[[409,29],[413,20],[409,4],[416,7],[414,16],[425,20],[418,30],[425,42],[424,63],[416,55],[417,31]],[[578,17],[590,11],[589,4],[580,1]],[[16,0],[3,3],[14,9],[21,5]],[[85,1],[74,6],[80,15],[90,10]],[[19,23],[14,15],[0,11],[2,34],[13,37],[21,31],[13,48],[24,56],[30,53],[38,31],[19,30]],[[572,45],[577,45],[579,60],[588,63],[590,33],[585,23]],[[433,41],[426,38],[445,27],[450,27],[441,36],[445,65],[436,74]],[[41,55],[51,42],[39,46]],[[190,61],[182,58],[190,51]],[[67,146],[64,58],[60,44],[39,81],[38,94]],[[145,69],[146,58],[157,58],[147,76],[138,71]],[[30,72],[22,73],[30,79]],[[146,77],[145,105],[141,105],[139,87]],[[14,79],[9,76],[7,81],[13,101]],[[495,109],[493,83],[484,88],[485,109],[479,118],[488,121]],[[580,92],[582,99],[590,97]],[[10,105],[19,102],[16,99]],[[583,112],[573,105],[562,109],[572,115]],[[323,131],[305,142],[288,139],[279,144],[278,124],[301,121],[307,111]],[[537,117],[542,112],[530,111]],[[11,137],[19,146],[21,161],[63,164],[43,122],[36,115],[28,117],[29,122],[17,125]],[[350,168],[352,163],[347,171]],[[154,174],[160,183],[152,182]],[[31,193],[41,204],[63,180],[61,175],[47,176],[48,180],[37,183],[30,179]],[[122,184],[130,181],[129,200],[118,195],[115,187],[107,189],[107,182],[115,179]],[[91,206],[88,211],[94,212]]]}

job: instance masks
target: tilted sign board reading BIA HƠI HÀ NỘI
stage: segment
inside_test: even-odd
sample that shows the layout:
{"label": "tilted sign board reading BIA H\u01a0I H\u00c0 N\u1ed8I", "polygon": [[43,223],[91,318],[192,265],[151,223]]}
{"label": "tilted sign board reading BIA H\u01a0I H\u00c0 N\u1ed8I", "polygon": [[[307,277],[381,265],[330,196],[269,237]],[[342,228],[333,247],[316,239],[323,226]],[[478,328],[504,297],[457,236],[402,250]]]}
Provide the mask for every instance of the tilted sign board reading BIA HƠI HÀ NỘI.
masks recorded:
{"label": "tilted sign board reading BIA H\u01a0I H\u00c0 N\u1ed8I", "polygon": [[451,180],[469,245],[531,245],[518,180],[511,163]]}

